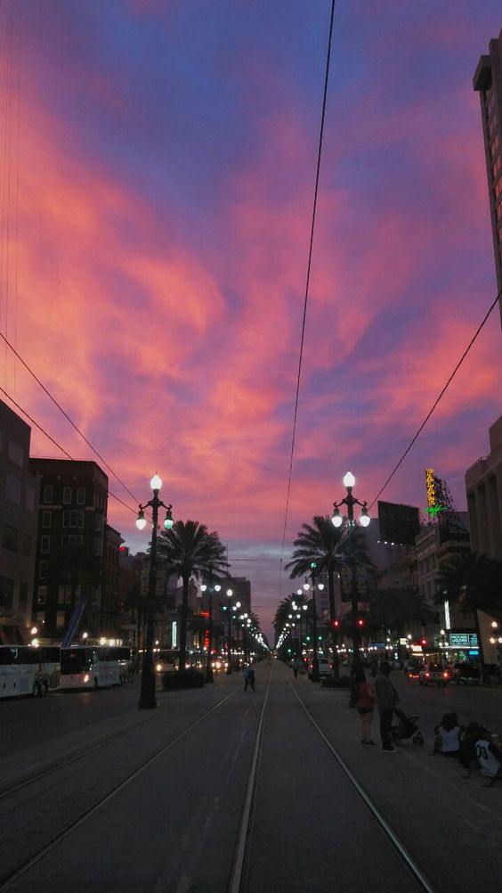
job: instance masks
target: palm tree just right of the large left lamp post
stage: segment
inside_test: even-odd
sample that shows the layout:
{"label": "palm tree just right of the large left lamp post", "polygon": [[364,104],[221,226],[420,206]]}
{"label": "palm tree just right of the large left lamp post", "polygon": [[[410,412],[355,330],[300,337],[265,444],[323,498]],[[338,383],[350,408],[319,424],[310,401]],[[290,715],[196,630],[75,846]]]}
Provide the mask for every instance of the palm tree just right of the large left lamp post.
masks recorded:
{"label": "palm tree just right of the large left lamp post", "polygon": [[159,555],[169,565],[169,571],[181,577],[183,597],[179,622],[179,668],[186,663],[186,622],[188,615],[188,584],[192,577],[226,574],[225,547],[218,533],[210,533],[205,524],[198,521],[177,521],[171,530],[161,531]]}

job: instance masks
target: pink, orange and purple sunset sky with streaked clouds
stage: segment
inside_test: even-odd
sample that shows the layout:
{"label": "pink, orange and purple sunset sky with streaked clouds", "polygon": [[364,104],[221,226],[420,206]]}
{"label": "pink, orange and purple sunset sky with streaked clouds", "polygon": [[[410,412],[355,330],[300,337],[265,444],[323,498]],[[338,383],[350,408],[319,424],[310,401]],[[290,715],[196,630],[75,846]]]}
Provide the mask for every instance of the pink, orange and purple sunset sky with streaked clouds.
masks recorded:
{"label": "pink, orange and purple sunset sky with streaked clouds", "polygon": [[[157,471],[267,633],[301,523],[348,468],[374,500],[497,294],[473,72],[500,0],[338,0],[284,537],[330,14],[0,5],[0,330],[134,495],[108,472],[126,545]],[[381,498],[424,508],[433,466],[465,509],[501,348],[496,308]],[[0,386],[103,467],[4,343]],[[63,455],[33,424],[31,453]]]}

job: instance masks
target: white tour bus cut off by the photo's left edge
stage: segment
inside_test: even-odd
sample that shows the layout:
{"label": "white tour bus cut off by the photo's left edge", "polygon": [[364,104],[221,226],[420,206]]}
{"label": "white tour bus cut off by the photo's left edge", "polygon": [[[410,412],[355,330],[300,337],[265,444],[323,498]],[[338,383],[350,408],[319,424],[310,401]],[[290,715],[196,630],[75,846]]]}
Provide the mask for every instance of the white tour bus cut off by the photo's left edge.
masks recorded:
{"label": "white tour bus cut off by the photo's left edge", "polygon": [[42,697],[58,688],[59,675],[59,647],[0,646],[0,697]]}

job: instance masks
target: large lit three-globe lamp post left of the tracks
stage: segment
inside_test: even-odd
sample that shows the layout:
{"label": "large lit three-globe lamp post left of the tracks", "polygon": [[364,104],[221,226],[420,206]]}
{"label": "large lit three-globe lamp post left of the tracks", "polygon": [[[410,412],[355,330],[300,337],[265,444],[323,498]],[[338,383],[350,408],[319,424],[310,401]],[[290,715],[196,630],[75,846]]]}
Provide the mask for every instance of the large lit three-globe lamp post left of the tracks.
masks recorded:
{"label": "large lit three-globe lamp post left of the tracks", "polygon": [[165,505],[159,499],[159,490],[162,486],[162,480],[155,472],[150,481],[153,490],[152,499],[149,499],[144,505],[139,505],[139,512],[136,519],[136,527],[138,530],[144,530],[146,519],[144,517],[144,509],[150,507],[152,509],[152,547],[150,549],[150,572],[148,575],[148,602],[146,606],[146,640],[143,649],[143,667],[141,672],[141,693],[139,696],[139,710],[148,710],[157,706],[155,697],[155,671],[153,670],[153,631],[155,623],[155,607],[157,604],[157,525],[159,522],[160,507],[166,509],[166,517],[164,519],[164,527],[170,530],[173,526],[173,517],[171,514],[172,505]]}

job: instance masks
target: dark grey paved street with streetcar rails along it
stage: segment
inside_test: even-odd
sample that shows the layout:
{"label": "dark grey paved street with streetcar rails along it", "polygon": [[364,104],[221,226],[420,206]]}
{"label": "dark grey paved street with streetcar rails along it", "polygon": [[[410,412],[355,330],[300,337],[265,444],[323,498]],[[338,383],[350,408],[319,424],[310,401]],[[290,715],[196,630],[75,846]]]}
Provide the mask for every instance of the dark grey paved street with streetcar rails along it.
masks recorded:
{"label": "dark grey paved street with streetcar rails along it", "polygon": [[[137,710],[137,680],[1,703],[9,734],[0,793],[35,768],[51,772],[0,801],[3,878],[38,852],[0,890],[447,893],[455,877],[456,891],[491,893],[502,872],[502,784],[484,788],[479,773],[463,779],[430,745],[446,710],[495,728],[498,689],[421,689],[396,676],[401,705],[420,714],[426,743],[387,755],[361,746],[346,690],[294,680],[277,662],[260,664],[257,680],[254,693],[243,692],[237,674],[200,690],[160,691],[155,711]],[[376,741],[377,731],[374,721]],[[232,887],[253,761],[242,872]],[[412,878],[354,780],[429,888]]]}

